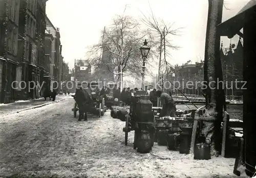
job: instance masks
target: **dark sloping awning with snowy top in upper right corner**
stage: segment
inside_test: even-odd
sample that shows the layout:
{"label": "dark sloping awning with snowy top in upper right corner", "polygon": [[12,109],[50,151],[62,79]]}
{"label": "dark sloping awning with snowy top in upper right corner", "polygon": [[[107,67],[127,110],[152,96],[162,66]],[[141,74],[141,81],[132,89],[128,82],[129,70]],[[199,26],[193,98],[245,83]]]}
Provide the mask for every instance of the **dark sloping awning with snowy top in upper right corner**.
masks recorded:
{"label": "dark sloping awning with snowy top in upper right corner", "polygon": [[237,15],[218,24],[217,30],[220,32],[220,35],[232,38],[234,35],[238,34],[244,26],[245,12],[254,7],[256,7],[256,0],[251,0],[237,13]]}

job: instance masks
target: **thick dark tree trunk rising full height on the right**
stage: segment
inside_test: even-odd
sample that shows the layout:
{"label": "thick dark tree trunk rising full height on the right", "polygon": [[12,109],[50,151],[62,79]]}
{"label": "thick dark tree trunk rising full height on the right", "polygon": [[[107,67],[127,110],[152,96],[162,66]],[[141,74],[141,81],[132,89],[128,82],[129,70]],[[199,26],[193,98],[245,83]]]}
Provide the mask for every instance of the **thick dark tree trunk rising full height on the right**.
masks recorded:
{"label": "thick dark tree trunk rising full height on the right", "polygon": [[[221,121],[223,110],[223,89],[218,82],[223,80],[220,61],[220,35],[217,25],[222,20],[223,0],[208,0],[208,19],[205,42],[204,81],[207,82],[206,114],[216,117],[216,121],[204,122],[202,134],[211,142],[212,153],[221,150]],[[215,82],[215,83],[214,83]]]}

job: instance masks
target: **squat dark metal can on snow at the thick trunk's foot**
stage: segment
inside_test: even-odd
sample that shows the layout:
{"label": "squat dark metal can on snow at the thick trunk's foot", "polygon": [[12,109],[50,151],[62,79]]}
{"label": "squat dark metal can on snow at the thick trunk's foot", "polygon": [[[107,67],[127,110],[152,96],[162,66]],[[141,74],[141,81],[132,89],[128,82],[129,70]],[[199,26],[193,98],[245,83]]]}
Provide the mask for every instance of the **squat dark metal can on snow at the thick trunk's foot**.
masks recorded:
{"label": "squat dark metal can on snow at the thick trunk's foot", "polygon": [[195,160],[210,160],[210,143],[198,143],[194,149]]}

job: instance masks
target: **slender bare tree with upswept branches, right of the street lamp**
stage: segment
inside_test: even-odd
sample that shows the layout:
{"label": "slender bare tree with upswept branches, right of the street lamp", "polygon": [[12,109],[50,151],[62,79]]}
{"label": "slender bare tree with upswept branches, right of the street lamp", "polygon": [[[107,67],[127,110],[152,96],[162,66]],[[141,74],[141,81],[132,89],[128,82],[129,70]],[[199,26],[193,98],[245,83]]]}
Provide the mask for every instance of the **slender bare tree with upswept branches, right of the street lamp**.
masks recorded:
{"label": "slender bare tree with upswept branches, right of the street lamp", "polygon": [[[155,39],[155,46],[157,46],[157,53],[159,57],[159,68],[158,68],[158,80],[160,80],[160,71],[163,70],[163,73],[174,73],[174,66],[171,65],[167,60],[166,56],[172,56],[169,53],[168,49],[178,49],[179,46],[172,44],[171,40],[169,39],[170,36],[177,36],[180,33],[182,28],[173,29],[173,24],[166,24],[163,20],[158,20],[154,15],[152,8],[150,17],[146,17],[142,12],[144,18],[141,18],[141,21],[146,24],[150,30],[153,31],[153,36]],[[163,53],[163,60],[162,60],[162,53]]]}

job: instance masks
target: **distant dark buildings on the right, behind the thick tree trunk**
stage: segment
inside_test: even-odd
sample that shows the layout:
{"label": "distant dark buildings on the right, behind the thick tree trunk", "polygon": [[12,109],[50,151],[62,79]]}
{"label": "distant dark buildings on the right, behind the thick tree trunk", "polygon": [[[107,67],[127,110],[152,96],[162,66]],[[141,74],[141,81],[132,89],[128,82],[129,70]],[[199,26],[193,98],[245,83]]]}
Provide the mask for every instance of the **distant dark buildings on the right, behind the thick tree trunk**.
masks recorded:
{"label": "distant dark buildings on the right, behind the thick tree trunk", "polygon": [[[222,71],[223,71],[223,80],[224,85],[226,85],[226,95],[227,96],[242,96],[242,90],[239,89],[240,85],[243,83],[238,83],[238,87],[235,86],[235,81],[243,80],[243,41],[240,38],[237,44],[230,43],[228,47],[223,47],[221,44],[220,57],[222,61]],[[192,81],[195,84],[195,81],[203,81],[203,67],[204,63],[196,62],[191,64],[190,61],[183,65],[175,65],[174,73],[175,77],[168,77],[173,81],[179,81],[180,85],[182,80],[184,81],[185,86],[181,86],[181,91],[186,94],[195,94],[201,95],[202,90],[200,85],[196,88],[192,86],[186,86],[187,81]],[[177,92],[177,90],[176,90]],[[178,93],[180,94],[180,93]]]}

